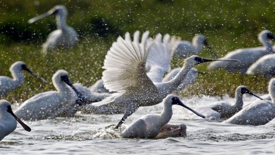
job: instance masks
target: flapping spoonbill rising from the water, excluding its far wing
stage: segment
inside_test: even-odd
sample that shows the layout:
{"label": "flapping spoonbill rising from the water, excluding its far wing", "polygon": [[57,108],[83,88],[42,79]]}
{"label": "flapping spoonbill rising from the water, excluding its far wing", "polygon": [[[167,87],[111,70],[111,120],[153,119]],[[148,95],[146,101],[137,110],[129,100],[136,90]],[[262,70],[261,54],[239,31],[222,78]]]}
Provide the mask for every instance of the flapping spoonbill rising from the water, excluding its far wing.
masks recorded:
{"label": "flapping spoonbill rising from the water, excluding its far wing", "polygon": [[204,59],[193,55],[185,59],[182,69],[172,80],[153,83],[146,74],[148,71],[146,59],[149,51],[146,48],[145,40],[148,33],[142,36],[142,44],[131,42],[131,40],[126,41],[119,37],[105,57],[102,80],[107,89],[119,92],[119,95],[114,94],[100,102],[92,103],[92,105],[111,104],[124,107],[125,113],[116,128],[139,106],[152,106],[162,102],[180,85],[188,71],[195,65],[208,61],[237,61]]}

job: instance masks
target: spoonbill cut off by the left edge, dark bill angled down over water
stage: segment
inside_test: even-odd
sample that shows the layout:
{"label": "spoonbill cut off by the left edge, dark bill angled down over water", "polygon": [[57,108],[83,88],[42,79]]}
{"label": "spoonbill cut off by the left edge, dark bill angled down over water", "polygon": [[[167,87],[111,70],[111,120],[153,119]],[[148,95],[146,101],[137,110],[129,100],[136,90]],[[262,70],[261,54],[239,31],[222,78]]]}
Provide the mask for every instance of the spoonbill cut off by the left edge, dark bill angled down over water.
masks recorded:
{"label": "spoonbill cut off by the left edge, dark bill angled down over water", "polygon": [[0,141],[16,129],[16,121],[20,123],[26,131],[31,131],[30,127],[25,125],[13,114],[11,104],[7,100],[0,100]]}

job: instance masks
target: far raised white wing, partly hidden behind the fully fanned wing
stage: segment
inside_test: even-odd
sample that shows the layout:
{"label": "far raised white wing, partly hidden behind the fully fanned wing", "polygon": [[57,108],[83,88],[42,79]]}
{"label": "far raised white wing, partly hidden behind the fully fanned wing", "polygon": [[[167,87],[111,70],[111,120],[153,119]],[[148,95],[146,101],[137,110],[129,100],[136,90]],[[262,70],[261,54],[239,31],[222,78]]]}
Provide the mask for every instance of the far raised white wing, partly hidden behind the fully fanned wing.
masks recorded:
{"label": "far raised white wing, partly hidden behind the fully fanned wing", "polygon": [[[150,66],[147,75],[153,82],[162,82],[164,74],[171,69],[170,61],[180,42],[179,40],[175,37],[170,40],[169,34],[165,34],[162,41],[162,35],[156,35],[146,61],[147,65]],[[147,44],[150,44],[150,42],[152,42],[152,39],[149,38]]]}

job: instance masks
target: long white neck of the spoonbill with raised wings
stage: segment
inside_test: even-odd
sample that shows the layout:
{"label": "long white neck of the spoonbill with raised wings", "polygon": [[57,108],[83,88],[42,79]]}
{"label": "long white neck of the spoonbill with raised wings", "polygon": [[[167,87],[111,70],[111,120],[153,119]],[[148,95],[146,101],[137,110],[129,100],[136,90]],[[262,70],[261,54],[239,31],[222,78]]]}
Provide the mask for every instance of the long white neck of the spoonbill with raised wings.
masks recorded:
{"label": "long white neck of the spoonbill with raised wings", "polygon": [[186,59],[182,68],[180,69],[178,74],[172,80],[170,80],[168,82],[162,82],[160,84],[156,84],[156,86],[157,86],[158,90],[161,92],[161,94],[164,96],[171,94],[184,80],[188,71],[195,65],[196,64],[194,64],[194,63],[188,61],[188,59]]}

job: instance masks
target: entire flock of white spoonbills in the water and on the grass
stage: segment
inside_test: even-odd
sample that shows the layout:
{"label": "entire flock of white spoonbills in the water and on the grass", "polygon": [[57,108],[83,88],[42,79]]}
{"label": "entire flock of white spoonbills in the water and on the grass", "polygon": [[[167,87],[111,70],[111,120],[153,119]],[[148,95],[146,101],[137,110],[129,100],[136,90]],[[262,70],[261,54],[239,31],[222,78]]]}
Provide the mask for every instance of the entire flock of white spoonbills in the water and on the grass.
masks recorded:
{"label": "entire flock of white spoonbills in the water and on the grass", "polygon": [[[50,33],[43,44],[43,53],[58,48],[73,47],[78,41],[76,31],[66,25],[67,11],[63,5],[57,5],[47,13],[29,20],[35,22],[40,18],[56,14],[58,29]],[[140,32],[125,38],[118,37],[107,52],[104,60],[102,80],[87,88],[79,83],[72,84],[68,72],[58,70],[52,76],[57,91],[36,94],[23,102],[13,113],[7,100],[0,100],[0,140],[17,127],[31,131],[20,119],[37,121],[58,116],[72,116],[80,110],[96,114],[124,113],[116,129],[140,106],[152,106],[162,102],[160,114],[148,114],[137,119],[121,133],[124,138],[154,138],[157,136],[182,136],[186,134],[186,125],[168,124],[172,117],[172,106],[179,105],[190,110],[190,119],[208,118],[225,119],[223,123],[239,125],[264,125],[275,117],[275,74],[274,49],[270,40],[275,40],[272,33],[263,30],[258,37],[263,47],[237,49],[221,59],[205,59],[197,55],[203,47],[210,48],[204,35],[196,35],[192,43],[182,41],[179,37],[156,34],[149,37],[146,31],[140,38]],[[213,52],[212,50],[210,50]],[[214,55],[216,55],[213,52]],[[183,66],[171,70],[170,61],[174,55],[184,59]],[[193,68],[200,63],[210,63],[208,69],[223,68],[247,74],[260,74],[272,78],[269,83],[269,94],[259,97],[246,86],[239,86],[235,92],[235,104],[216,102],[211,106],[189,108],[173,92],[183,90],[186,85],[195,81],[201,73]],[[28,69],[22,61],[10,67],[13,78],[0,76],[0,96],[21,86],[24,82],[23,70],[36,76],[42,82],[46,80]],[[257,98],[243,107],[242,95],[248,93]],[[203,114],[197,112],[203,112]],[[199,116],[199,117],[198,117]]]}

